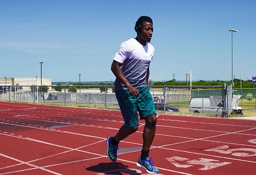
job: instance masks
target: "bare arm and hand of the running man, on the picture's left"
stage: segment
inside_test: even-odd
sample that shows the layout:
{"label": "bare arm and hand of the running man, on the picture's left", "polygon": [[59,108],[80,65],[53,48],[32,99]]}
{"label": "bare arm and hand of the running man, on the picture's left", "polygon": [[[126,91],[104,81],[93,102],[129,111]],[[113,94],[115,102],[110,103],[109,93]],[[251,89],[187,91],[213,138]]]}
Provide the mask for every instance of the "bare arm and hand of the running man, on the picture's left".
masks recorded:
{"label": "bare arm and hand of the running man, on the picture's left", "polygon": [[139,96],[139,91],[137,90],[137,88],[132,86],[124,76],[123,71],[120,68],[121,65],[121,63],[114,60],[111,65],[111,71],[114,73],[116,78],[119,79],[128,88],[128,91],[132,96]]}

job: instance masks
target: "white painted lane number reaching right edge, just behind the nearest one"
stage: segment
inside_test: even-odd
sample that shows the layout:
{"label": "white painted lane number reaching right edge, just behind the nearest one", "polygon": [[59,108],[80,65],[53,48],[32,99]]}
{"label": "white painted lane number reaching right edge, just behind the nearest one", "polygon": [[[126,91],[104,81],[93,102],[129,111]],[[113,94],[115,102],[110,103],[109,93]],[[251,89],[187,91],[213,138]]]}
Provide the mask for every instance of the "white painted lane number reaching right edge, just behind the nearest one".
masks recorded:
{"label": "white painted lane number reaching right edge, just behind the nearest one", "polygon": [[228,149],[228,148],[229,148],[228,145],[224,145],[216,148],[205,149],[204,151],[213,151],[213,152],[222,153],[222,154],[231,154],[233,156],[238,156],[238,157],[256,156],[256,149],[254,148],[233,148],[233,149]]}

